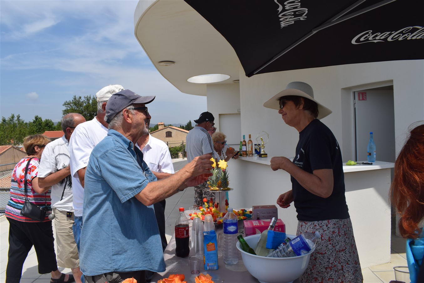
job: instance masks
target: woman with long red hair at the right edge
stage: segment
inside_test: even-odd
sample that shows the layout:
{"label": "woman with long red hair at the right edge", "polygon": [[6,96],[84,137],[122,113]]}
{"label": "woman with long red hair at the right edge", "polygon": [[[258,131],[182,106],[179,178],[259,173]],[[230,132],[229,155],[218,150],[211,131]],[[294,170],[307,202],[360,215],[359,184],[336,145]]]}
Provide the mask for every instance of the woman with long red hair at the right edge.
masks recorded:
{"label": "woman with long red hair at the right edge", "polygon": [[407,238],[410,280],[412,283],[424,282],[424,125],[410,131],[396,159],[391,196],[392,204],[401,216],[399,232]]}

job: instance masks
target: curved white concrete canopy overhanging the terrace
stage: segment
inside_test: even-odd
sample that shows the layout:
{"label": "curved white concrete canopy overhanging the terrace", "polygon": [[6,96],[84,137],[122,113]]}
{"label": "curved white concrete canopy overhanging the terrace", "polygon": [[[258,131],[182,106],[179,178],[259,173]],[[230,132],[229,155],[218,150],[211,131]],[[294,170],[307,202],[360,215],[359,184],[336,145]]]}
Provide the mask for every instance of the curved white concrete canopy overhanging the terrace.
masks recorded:
{"label": "curved white concrete canopy overhanging the terrace", "polygon": [[[239,79],[240,61],[232,46],[198,12],[182,0],[140,0],[134,12],[135,36],[151,62],[181,92],[206,95],[207,84],[193,76],[224,74]],[[160,66],[161,61],[174,65]]]}

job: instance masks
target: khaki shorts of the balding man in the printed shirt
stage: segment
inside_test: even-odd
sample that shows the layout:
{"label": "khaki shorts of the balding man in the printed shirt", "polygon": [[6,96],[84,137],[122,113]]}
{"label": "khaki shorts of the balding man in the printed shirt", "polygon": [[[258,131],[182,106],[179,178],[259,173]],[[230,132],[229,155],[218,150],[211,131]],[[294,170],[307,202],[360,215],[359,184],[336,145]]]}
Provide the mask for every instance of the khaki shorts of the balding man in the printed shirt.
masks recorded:
{"label": "khaki shorts of the balding man in the printed shirt", "polygon": [[77,244],[75,244],[72,224],[72,217],[66,217],[66,211],[53,208],[54,227],[56,230],[56,256],[57,265],[65,268],[76,268],[79,266]]}

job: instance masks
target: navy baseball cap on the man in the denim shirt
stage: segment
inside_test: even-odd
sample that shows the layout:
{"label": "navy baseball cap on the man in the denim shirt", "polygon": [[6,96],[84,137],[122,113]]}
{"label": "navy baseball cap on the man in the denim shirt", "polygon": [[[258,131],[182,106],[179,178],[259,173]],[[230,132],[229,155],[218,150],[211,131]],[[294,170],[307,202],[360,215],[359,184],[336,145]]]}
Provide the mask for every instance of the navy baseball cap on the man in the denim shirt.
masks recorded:
{"label": "navy baseball cap on the man in the denim shirt", "polygon": [[156,96],[141,96],[131,90],[121,90],[113,94],[106,104],[106,123],[110,123],[112,119],[124,108],[134,103],[151,103]]}

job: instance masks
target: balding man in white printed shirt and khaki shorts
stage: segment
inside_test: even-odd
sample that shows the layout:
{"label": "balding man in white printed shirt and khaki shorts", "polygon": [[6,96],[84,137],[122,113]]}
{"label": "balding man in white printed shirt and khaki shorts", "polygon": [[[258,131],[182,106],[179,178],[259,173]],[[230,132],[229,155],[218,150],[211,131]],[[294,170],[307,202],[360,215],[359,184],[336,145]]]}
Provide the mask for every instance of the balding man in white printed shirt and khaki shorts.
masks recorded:
{"label": "balding man in white printed shirt and khaki shorts", "polygon": [[75,127],[84,122],[84,116],[78,113],[69,113],[62,118],[61,126],[64,135],[45,146],[37,176],[38,185],[41,188],[52,187],[51,207],[52,215],[55,216],[57,265],[70,268],[76,283],[81,282],[82,273],[72,230],[74,209],[69,168],[69,139]]}

